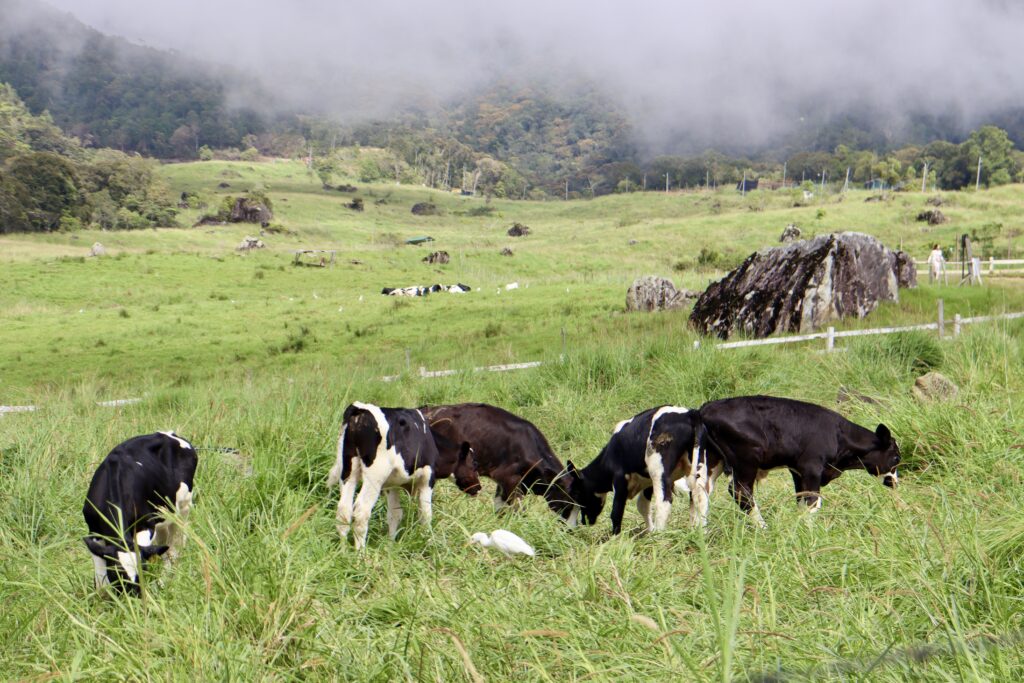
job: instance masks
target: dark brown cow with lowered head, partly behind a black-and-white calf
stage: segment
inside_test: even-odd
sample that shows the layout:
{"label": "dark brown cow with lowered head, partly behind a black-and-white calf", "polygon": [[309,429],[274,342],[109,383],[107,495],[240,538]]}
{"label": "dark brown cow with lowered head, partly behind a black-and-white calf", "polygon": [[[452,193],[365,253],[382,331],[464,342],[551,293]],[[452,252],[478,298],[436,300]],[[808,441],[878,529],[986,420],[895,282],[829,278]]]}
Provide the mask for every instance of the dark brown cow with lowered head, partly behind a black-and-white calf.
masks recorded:
{"label": "dark brown cow with lowered head, partly behind a black-and-white calf", "polygon": [[523,493],[544,496],[548,507],[575,526],[579,477],[572,464],[562,467],[548,439],[531,422],[486,403],[423,408],[435,433],[473,446],[476,471],[498,484],[495,509],[514,505]]}

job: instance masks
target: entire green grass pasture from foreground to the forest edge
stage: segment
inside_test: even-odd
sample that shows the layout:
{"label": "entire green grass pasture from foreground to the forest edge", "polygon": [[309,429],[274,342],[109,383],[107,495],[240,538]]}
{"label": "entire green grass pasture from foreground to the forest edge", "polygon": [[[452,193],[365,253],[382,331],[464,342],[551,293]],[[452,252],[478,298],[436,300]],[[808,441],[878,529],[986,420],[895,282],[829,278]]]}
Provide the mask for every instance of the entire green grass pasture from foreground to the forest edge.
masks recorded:
{"label": "entire green grass pasture from foreground to the forest edge", "polygon": [[[495,201],[492,213],[473,215],[482,200],[374,186],[360,187],[367,210],[355,213],[344,208],[351,196],[323,190],[298,164],[164,173],[175,191],[211,204],[218,193],[265,188],[290,232],[265,236],[268,248],[248,256],[233,252],[252,233],[240,226],[0,238],[0,404],[40,407],[0,417],[0,677],[1024,677],[1024,326],[977,326],[943,342],[862,338],[828,355],[799,345],[725,352],[694,351],[683,312],[622,312],[636,275],[702,288],[723,270],[700,266],[701,249],[721,254],[724,268],[775,243],[788,222],[805,234],[873,233],[919,257],[933,242],[998,223],[992,249],[1014,254],[1024,188],[946,195],[950,222],[926,230],[914,221],[919,194],[866,203],[868,194],[851,193],[807,207],[787,193]],[[232,186],[218,190],[221,181]],[[441,215],[410,213],[428,199]],[[514,221],[532,233],[508,238]],[[400,245],[420,234],[436,241]],[[96,241],[111,255],[84,258]],[[499,255],[505,246],[514,256]],[[293,266],[300,248],[338,249],[339,262]],[[422,263],[434,249],[453,262]],[[474,292],[379,294],[434,282]],[[504,291],[510,282],[520,289]],[[1024,310],[1013,280],[925,285],[845,325],[932,319],[937,298],[947,317]],[[421,380],[404,372],[407,350],[414,371],[553,362]],[[913,379],[928,369],[956,382],[958,396],[913,399]],[[399,372],[396,382],[378,379]],[[878,402],[838,403],[841,387]],[[776,472],[758,495],[766,530],[720,489],[707,536],[686,527],[680,505],[653,537],[640,533],[631,507],[626,532],[611,538],[607,515],[570,531],[540,501],[500,516],[489,483],[470,499],[444,481],[430,531],[407,500],[397,542],[379,510],[365,553],[338,543],[337,493],[325,479],[350,400],[494,402],[582,465],[642,409],[755,392],[885,422],[904,454],[900,488],[848,473],[810,521]],[[127,396],[144,400],[95,404]],[[82,501],[113,445],[157,429],[239,454],[200,454],[181,561],[155,562],[142,600],[112,600],[92,589]],[[467,545],[471,532],[498,527],[539,556],[509,561]]]}

